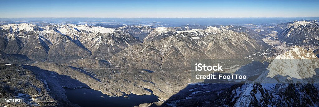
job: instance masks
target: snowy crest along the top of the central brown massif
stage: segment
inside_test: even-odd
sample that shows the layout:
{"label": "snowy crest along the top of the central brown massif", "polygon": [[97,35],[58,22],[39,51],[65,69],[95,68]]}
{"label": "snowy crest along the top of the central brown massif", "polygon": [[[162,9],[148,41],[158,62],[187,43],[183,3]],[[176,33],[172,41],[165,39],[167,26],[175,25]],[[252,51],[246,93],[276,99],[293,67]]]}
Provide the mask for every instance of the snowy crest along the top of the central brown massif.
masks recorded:
{"label": "snowy crest along the top of the central brown massif", "polygon": [[[238,33],[246,33],[249,37],[253,39],[261,39],[261,36],[258,32],[250,30],[241,26],[233,25],[215,25],[215,26],[201,26],[201,25],[192,25],[192,29],[184,28],[190,27],[190,25],[184,25],[179,28],[155,28],[144,41],[154,41],[160,40],[168,36],[173,37],[188,37],[193,40],[201,40],[206,35],[232,35]],[[169,30],[170,29],[170,30]],[[237,33],[236,33],[237,32]],[[258,40],[262,41],[262,40]]]}

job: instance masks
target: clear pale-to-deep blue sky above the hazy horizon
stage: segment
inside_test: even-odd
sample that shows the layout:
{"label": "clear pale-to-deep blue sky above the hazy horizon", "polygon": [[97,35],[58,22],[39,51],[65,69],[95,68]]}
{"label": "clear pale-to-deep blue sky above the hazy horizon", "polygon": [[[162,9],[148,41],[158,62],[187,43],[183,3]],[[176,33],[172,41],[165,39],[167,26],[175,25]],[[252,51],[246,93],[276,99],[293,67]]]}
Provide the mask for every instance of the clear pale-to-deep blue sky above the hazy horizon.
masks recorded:
{"label": "clear pale-to-deep blue sky above the hazy horizon", "polygon": [[0,17],[318,17],[319,0],[5,0]]}

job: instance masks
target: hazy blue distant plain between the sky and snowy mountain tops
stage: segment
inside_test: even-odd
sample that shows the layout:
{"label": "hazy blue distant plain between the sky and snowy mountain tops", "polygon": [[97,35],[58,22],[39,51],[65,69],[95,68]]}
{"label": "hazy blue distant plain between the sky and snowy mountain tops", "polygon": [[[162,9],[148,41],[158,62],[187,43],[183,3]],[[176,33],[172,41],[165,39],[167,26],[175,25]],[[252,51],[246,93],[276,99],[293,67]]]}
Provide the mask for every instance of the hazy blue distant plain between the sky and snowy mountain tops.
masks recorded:
{"label": "hazy blue distant plain between the sky and snowy mountain tops", "polygon": [[242,17],[242,18],[0,18],[0,25],[10,23],[31,23],[38,26],[65,24],[104,24],[104,25],[149,25],[154,27],[179,27],[186,24],[200,25],[276,25],[295,20],[317,20],[319,17]]}

